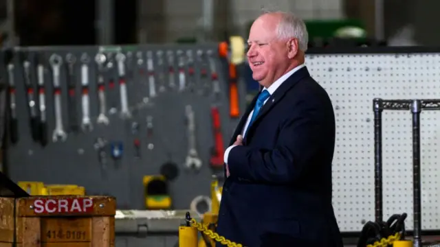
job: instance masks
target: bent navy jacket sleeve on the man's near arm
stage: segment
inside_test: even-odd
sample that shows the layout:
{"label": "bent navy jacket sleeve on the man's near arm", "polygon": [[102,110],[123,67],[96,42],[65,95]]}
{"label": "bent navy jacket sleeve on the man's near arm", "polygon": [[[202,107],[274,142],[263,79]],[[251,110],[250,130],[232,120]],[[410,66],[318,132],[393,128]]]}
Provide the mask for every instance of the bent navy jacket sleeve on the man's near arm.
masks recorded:
{"label": "bent navy jacket sleeve on the man's near arm", "polygon": [[[310,167],[319,155],[325,108],[314,100],[303,99],[294,105],[292,116],[280,123],[278,141],[273,150],[243,145],[232,148],[228,157],[230,176],[265,183],[292,183]],[[274,126],[277,128],[277,126]]]}

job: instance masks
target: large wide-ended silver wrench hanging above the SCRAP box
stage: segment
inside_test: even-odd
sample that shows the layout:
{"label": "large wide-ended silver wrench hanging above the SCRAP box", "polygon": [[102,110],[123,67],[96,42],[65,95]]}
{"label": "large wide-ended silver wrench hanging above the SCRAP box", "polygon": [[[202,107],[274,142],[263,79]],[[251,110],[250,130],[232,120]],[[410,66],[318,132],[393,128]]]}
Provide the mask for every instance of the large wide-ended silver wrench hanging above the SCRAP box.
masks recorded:
{"label": "large wide-ended silver wrench hanging above the SCRAP box", "polygon": [[65,141],[67,134],[64,131],[63,126],[63,113],[61,109],[61,84],[60,84],[60,72],[61,64],[63,64],[63,58],[58,54],[52,54],[49,58],[50,65],[52,66],[54,76],[54,108],[55,108],[55,130],[52,134],[52,141],[56,142],[58,139]]}

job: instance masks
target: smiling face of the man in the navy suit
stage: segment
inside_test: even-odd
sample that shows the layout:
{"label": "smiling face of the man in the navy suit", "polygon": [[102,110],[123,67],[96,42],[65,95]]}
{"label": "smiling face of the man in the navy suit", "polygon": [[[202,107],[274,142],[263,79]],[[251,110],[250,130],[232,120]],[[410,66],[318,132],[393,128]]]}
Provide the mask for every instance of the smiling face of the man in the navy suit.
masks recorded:
{"label": "smiling face of the man in the navy suit", "polygon": [[252,24],[248,38],[248,61],[252,78],[268,87],[281,77],[288,65],[287,44],[277,38],[279,18],[269,14],[260,16]]}

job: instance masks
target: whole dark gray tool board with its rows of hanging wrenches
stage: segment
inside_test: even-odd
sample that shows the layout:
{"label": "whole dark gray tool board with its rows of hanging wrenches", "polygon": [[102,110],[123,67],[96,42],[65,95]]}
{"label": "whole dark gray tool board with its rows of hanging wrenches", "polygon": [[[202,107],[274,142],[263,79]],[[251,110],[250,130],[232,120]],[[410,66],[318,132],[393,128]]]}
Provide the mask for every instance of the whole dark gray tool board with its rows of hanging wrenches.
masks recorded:
{"label": "whole dark gray tool board with its rows of hanging wrenches", "polygon": [[[211,169],[210,162],[214,147],[212,108],[219,111],[223,149],[239,121],[230,116],[228,63],[219,56],[217,47],[20,47],[4,52],[2,78],[13,84],[9,95],[10,106],[14,106],[14,110],[9,110],[12,142],[7,153],[10,178],[79,185],[88,194],[115,196],[119,209],[145,209],[145,175],[171,174],[168,189],[175,209],[188,209],[197,196],[209,197],[211,175],[221,174],[218,166]],[[70,66],[73,60],[75,64]],[[124,71],[120,71],[120,66]],[[55,117],[57,68],[65,136],[59,132],[55,138],[55,130],[59,129]],[[26,86],[27,69],[32,89]],[[182,86],[184,75],[186,84]],[[155,89],[151,89],[151,76],[155,78]],[[42,79],[45,100],[39,98],[43,89],[38,82]],[[237,86],[239,108],[243,111],[245,85]],[[105,102],[100,89],[104,89]],[[45,102],[45,131],[41,102]],[[101,107],[103,103],[105,109]],[[186,110],[192,111],[195,119],[199,168],[186,163],[190,145]],[[30,124],[32,119],[39,124]],[[39,137],[43,132],[45,142]],[[223,154],[217,156],[223,160]],[[166,163],[168,167],[164,167]]]}

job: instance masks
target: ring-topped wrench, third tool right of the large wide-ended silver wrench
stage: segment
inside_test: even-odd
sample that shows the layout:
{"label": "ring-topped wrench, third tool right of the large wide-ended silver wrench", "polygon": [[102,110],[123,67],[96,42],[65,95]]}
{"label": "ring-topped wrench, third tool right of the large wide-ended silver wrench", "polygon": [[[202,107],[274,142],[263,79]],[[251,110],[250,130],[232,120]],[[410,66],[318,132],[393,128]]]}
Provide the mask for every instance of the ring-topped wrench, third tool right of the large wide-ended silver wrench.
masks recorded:
{"label": "ring-topped wrench, third tool right of the large wide-ended silver wrench", "polygon": [[96,122],[98,124],[109,124],[109,118],[105,115],[107,113],[107,103],[105,95],[105,83],[104,83],[104,69],[107,58],[104,54],[98,53],[95,56],[95,62],[98,64],[98,99],[99,99],[99,115]]}

